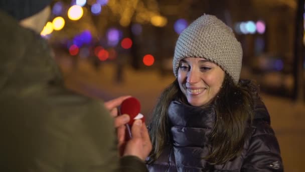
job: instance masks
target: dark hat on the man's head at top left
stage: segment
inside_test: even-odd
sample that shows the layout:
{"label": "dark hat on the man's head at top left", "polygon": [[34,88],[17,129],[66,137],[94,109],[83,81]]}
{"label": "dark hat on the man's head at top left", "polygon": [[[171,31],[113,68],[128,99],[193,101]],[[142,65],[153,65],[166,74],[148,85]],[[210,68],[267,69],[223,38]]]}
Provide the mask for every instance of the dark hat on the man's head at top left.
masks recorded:
{"label": "dark hat on the man's head at top left", "polygon": [[52,0],[1,0],[0,10],[6,12],[17,20],[31,17],[48,5]]}

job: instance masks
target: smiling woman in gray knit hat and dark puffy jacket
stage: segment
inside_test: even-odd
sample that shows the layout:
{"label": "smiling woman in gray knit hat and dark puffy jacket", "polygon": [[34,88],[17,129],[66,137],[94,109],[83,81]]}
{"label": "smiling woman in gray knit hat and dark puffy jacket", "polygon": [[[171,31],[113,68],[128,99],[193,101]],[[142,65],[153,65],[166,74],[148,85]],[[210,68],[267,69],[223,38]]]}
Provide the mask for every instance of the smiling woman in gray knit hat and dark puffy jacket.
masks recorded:
{"label": "smiling woman in gray knit hat and dark puffy jacket", "polygon": [[149,171],[283,171],[257,88],[239,80],[241,63],[240,43],[215,16],[203,15],[181,33],[177,79],[149,125]]}

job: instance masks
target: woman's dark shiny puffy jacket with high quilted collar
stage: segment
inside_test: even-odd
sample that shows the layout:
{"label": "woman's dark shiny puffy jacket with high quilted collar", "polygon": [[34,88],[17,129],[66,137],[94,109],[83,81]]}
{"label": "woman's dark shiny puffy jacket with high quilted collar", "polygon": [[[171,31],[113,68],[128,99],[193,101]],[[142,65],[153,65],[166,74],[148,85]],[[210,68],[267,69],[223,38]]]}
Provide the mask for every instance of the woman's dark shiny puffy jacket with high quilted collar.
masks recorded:
{"label": "woman's dark shiny puffy jacket with high quilted collar", "polygon": [[148,165],[149,171],[283,171],[269,114],[259,99],[254,107],[252,137],[245,142],[240,156],[221,165],[211,165],[202,157],[208,154],[207,136],[214,125],[215,111],[173,101],[169,107],[172,142]]}

